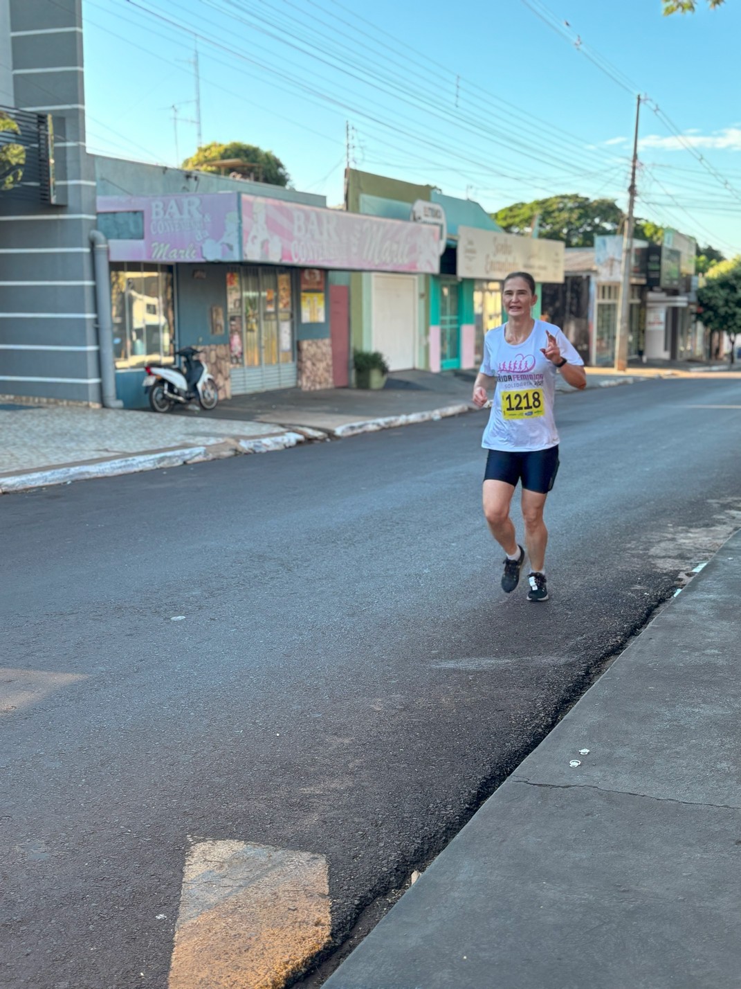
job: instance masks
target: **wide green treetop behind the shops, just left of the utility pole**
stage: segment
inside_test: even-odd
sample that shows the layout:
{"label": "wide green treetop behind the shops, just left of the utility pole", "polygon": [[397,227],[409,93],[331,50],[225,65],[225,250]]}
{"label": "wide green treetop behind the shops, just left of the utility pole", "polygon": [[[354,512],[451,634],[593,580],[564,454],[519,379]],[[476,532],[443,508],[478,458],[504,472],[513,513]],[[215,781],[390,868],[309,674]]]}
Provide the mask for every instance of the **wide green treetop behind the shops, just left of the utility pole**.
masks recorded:
{"label": "wide green treetop behind the shops, just left of the utility pole", "polygon": [[624,219],[615,200],[575,195],[514,203],[492,214],[492,219],[510,233],[528,236],[537,216],[538,236],[562,240],[567,247],[591,247],[595,236],[617,233]]}

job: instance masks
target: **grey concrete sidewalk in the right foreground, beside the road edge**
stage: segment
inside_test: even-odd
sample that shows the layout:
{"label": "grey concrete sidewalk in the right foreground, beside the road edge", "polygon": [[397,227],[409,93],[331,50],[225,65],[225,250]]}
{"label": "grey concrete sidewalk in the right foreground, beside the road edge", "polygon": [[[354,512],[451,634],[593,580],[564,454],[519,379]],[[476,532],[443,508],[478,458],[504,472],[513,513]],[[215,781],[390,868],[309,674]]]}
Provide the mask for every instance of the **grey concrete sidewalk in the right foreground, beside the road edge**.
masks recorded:
{"label": "grey concrete sidewalk in the right foreground, beside the road edge", "polygon": [[741,986],[740,582],[737,533],[326,989]]}

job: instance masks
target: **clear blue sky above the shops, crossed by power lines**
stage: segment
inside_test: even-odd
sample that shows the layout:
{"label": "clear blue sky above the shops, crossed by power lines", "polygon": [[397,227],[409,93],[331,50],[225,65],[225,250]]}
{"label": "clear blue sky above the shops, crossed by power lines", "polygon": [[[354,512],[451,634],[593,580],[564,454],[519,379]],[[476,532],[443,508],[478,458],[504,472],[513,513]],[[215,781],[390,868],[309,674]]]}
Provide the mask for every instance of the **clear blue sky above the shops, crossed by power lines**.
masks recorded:
{"label": "clear blue sky above the shops, crossed by power lines", "polygon": [[197,33],[204,141],[270,148],[330,204],[349,122],[358,167],[489,211],[573,192],[624,208],[640,91],[655,102],[638,216],[741,252],[739,0],[672,18],[660,0],[135,4],[83,0],[91,150],[165,164],[195,150]]}

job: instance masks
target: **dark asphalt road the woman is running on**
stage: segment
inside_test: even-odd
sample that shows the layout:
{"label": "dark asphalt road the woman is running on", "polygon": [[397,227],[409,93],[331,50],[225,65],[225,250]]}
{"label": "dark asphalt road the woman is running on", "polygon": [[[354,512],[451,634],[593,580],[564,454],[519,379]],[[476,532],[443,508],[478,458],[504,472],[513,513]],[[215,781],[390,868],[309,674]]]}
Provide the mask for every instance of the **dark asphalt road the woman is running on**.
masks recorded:
{"label": "dark asphalt road the woman is running on", "polygon": [[164,989],[189,836],[325,854],[341,938],[741,524],[740,400],[559,397],[542,605],[482,415],[0,498],[3,989]]}

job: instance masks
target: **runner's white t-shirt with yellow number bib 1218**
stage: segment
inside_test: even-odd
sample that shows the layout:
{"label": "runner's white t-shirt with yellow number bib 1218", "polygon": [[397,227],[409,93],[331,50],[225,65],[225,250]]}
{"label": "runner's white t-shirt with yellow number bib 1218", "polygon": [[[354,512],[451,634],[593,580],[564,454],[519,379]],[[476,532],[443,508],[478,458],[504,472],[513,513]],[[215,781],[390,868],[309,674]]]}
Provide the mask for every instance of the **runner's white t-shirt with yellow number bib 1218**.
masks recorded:
{"label": "runner's white t-shirt with yellow number bib 1218", "polygon": [[547,333],[569,364],[583,366],[584,361],[558,326],[535,319],[527,340],[515,345],[505,339],[506,325],[484,337],[481,373],[496,378],[497,387],[481,446],[513,453],[547,450],[558,442],[553,417],[558,371],[540,350],[548,345]]}

